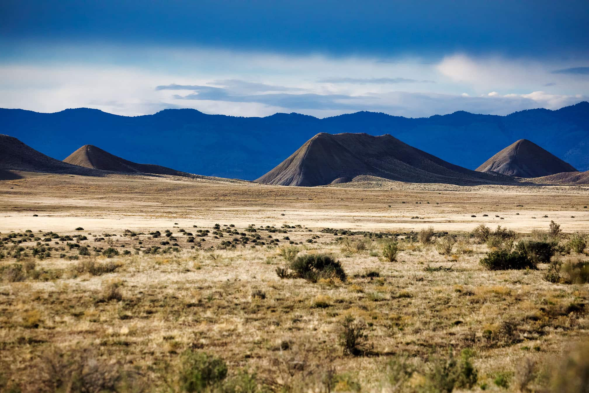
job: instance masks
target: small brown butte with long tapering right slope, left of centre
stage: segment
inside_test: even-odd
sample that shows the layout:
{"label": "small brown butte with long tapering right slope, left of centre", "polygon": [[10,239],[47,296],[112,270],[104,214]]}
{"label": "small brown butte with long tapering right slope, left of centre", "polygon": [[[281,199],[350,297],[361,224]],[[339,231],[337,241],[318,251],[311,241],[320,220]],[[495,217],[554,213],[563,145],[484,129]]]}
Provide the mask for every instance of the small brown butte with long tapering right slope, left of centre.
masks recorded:
{"label": "small brown butte with long tapering right slope, left of centre", "polygon": [[92,146],[90,144],[78,148],[78,150],[74,151],[74,153],[65,158],[64,162],[82,167],[113,172],[191,176],[189,173],[177,171],[159,165],[133,163],[131,161],[125,160],[124,158],[114,156],[114,154],[108,153],[108,151],[104,151],[101,148]]}

